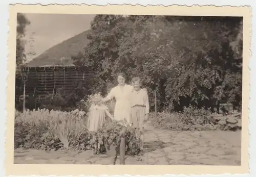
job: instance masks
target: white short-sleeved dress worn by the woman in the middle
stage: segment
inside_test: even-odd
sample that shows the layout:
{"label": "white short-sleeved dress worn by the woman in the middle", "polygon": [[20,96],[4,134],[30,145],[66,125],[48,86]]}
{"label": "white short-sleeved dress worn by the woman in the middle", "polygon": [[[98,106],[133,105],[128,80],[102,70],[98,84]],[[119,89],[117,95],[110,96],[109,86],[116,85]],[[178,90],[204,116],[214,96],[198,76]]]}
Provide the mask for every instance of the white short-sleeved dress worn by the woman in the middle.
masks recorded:
{"label": "white short-sleeved dress worn by the woman in the middle", "polygon": [[108,94],[108,98],[112,99],[113,97],[116,98],[116,105],[114,111],[114,119],[124,120],[124,118],[131,122],[130,120],[130,110],[131,105],[129,103],[129,95],[133,90],[133,86],[125,84],[124,86],[116,86],[111,89],[110,93]]}

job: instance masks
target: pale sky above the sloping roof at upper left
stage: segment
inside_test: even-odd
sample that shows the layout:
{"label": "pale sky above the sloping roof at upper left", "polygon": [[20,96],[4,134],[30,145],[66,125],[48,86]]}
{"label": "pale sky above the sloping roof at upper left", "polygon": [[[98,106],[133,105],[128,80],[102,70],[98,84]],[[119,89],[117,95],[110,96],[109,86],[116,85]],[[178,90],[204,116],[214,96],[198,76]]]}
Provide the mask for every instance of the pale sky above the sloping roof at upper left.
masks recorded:
{"label": "pale sky above the sloping roof at upper left", "polygon": [[[25,14],[30,20],[26,27],[25,51],[27,60],[45,52],[50,47],[90,29],[95,15],[87,14]],[[32,41],[32,40],[33,41]]]}

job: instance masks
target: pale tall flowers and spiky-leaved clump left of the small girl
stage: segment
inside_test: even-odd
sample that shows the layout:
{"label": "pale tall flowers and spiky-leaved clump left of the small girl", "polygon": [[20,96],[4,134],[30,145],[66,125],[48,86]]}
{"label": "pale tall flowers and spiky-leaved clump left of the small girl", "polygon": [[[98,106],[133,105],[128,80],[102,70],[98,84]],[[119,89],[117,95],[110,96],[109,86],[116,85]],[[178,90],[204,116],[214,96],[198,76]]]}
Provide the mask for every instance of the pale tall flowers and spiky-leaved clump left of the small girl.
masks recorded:
{"label": "pale tall flowers and spiky-leaved clump left of the small girl", "polygon": [[[79,110],[61,112],[38,109],[23,113],[15,112],[16,127],[18,125],[24,127],[24,130],[34,129],[36,131],[43,129],[41,139],[45,140],[44,136],[47,134],[52,137],[50,139],[59,139],[62,147],[66,149],[76,145],[81,135],[87,132],[86,122],[86,113]],[[22,134],[22,132],[19,133]],[[29,134],[26,137],[28,136]]]}

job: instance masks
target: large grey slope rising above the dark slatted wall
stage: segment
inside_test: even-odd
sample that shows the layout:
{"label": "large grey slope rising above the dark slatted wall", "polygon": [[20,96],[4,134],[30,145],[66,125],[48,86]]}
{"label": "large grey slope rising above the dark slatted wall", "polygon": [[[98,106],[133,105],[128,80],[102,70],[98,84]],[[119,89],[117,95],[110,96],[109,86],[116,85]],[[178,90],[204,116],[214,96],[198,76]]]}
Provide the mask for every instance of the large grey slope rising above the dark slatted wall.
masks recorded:
{"label": "large grey slope rising above the dark slatted wall", "polygon": [[[27,63],[27,66],[45,66],[45,65],[72,65],[71,56],[79,52],[84,53],[84,47],[89,43],[87,34],[90,30],[84,31],[72,38],[69,38],[46,50],[44,53]],[[64,60],[61,60],[64,58]]]}

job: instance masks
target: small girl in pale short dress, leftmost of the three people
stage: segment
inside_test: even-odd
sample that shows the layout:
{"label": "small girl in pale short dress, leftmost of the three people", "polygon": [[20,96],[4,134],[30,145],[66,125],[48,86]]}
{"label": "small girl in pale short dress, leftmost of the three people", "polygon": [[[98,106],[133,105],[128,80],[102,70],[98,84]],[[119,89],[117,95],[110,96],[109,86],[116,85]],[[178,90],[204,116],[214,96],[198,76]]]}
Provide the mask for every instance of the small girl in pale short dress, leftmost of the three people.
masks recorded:
{"label": "small girl in pale short dress, leftmost of the three people", "polygon": [[[95,141],[95,133],[97,130],[102,127],[104,121],[106,120],[105,115],[108,115],[111,119],[114,119],[110,114],[108,107],[103,105],[100,100],[103,97],[99,94],[95,94],[92,97],[92,106],[89,110],[89,118],[88,118],[88,130],[93,134],[93,141]],[[98,142],[98,146],[95,146],[95,154],[99,153],[100,143]]]}

